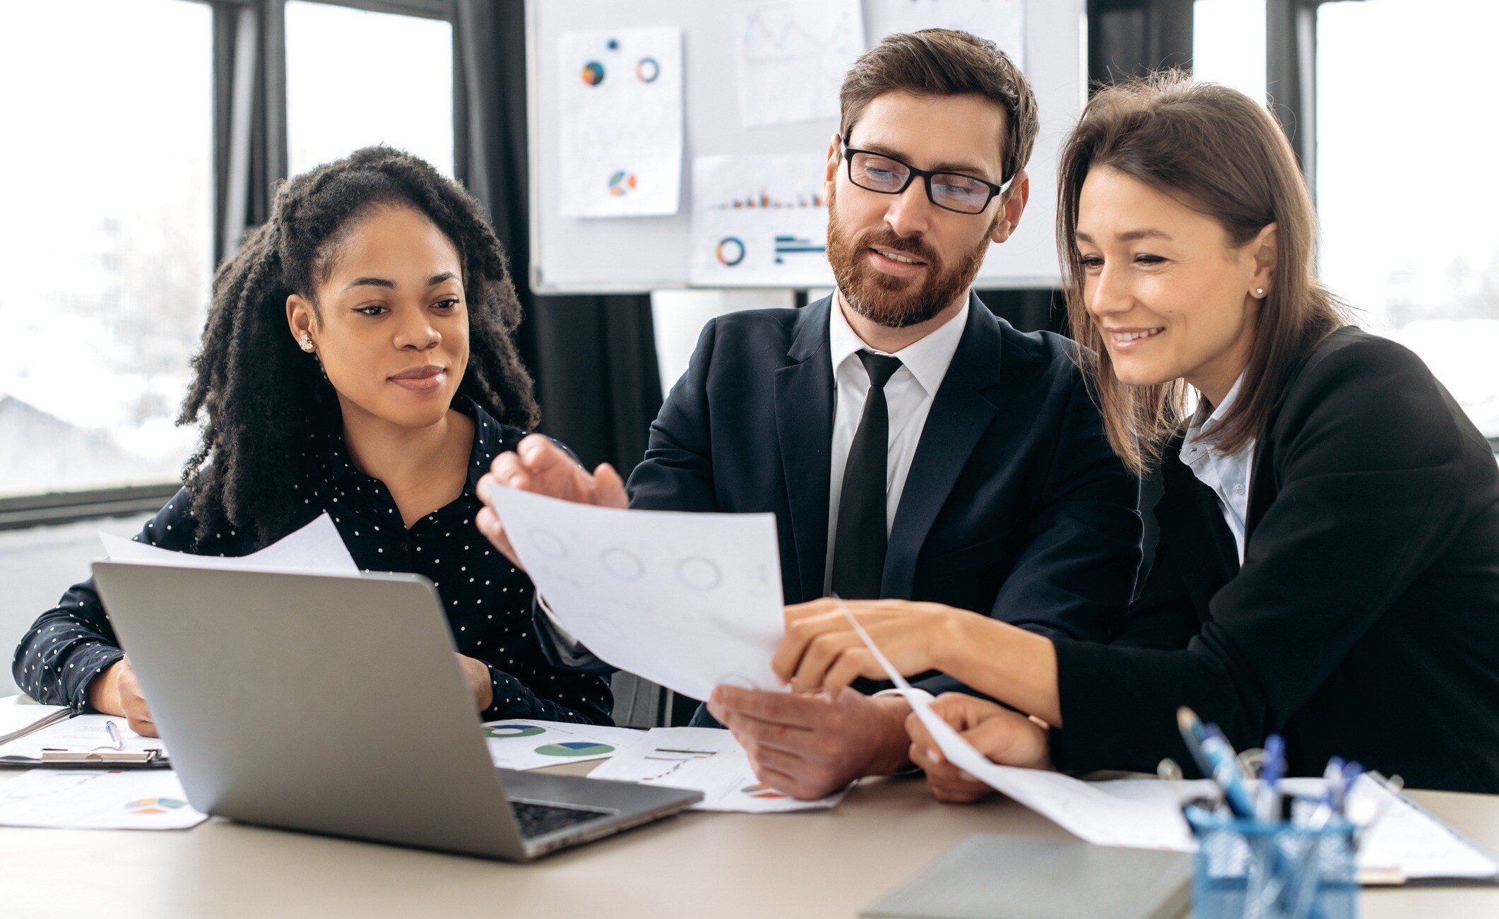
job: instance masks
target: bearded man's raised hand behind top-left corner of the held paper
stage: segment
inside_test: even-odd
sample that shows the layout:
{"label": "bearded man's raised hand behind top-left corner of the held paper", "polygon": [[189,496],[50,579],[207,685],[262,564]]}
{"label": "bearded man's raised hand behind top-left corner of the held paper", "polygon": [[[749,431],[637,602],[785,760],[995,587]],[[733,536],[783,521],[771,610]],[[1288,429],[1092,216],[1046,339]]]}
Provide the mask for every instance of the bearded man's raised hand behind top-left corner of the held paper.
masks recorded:
{"label": "bearded man's raised hand behind top-left corner of the held paper", "polygon": [[520,441],[514,453],[501,453],[495,457],[489,472],[478,480],[478,499],[484,502],[474,525],[484,534],[495,549],[505,553],[511,565],[520,568],[520,558],[516,556],[505,525],[495,513],[489,499],[489,487],[501,484],[522,492],[576,501],[577,504],[597,504],[600,507],[628,507],[625,481],[609,463],[594,469],[592,475],[579,466],[571,456],[552,442],[552,438],[540,433],[529,435]]}

